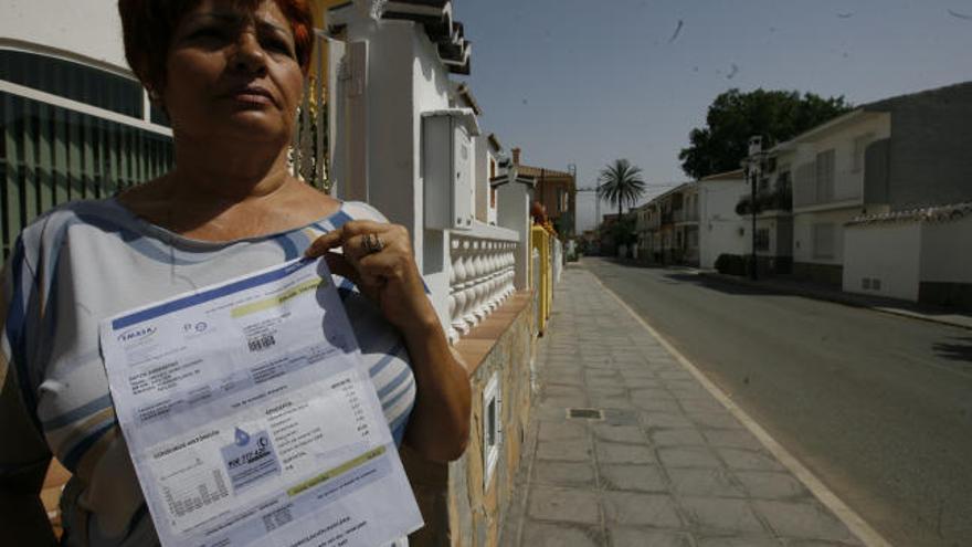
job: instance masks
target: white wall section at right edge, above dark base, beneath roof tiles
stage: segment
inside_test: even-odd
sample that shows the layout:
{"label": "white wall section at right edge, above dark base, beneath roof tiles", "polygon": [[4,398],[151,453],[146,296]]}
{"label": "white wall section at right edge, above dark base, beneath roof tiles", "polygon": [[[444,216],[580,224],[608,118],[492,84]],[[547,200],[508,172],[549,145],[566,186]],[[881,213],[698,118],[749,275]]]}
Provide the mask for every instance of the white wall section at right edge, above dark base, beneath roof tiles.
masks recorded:
{"label": "white wall section at right edge, above dark base, beneath roof tiles", "polygon": [[921,281],[972,283],[972,217],[922,225]]}

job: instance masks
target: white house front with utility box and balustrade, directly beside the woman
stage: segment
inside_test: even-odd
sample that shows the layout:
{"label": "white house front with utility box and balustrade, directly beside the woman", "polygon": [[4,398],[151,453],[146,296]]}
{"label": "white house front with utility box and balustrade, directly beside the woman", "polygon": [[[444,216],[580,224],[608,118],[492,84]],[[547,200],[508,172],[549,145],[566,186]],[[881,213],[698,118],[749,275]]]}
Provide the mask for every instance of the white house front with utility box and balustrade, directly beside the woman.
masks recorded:
{"label": "white house front with utility box and balustrade, directly beside the woman", "polygon": [[494,168],[498,152],[488,152],[468,87],[450,80],[468,73],[471,48],[451,2],[378,2],[377,13],[360,3],[327,15],[331,127],[340,136],[330,139],[335,193],[367,200],[409,229],[436,311],[455,338],[496,297],[473,291],[496,275],[480,266],[509,269],[509,287],[493,287],[509,293],[515,275],[505,261],[510,248],[529,242],[518,225],[490,225],[488,203],[479,204],[489,193],[483,168]]}

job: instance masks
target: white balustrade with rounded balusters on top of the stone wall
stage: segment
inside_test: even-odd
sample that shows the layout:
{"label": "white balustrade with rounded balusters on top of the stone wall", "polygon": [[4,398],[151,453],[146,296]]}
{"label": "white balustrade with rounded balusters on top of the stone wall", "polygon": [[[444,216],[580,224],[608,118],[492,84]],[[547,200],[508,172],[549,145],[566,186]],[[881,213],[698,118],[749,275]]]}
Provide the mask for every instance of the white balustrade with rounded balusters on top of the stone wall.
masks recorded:
{"label": "white balustrade with rounded balusters on top of the stone wall", "polygon": [[515,292],[518,234],[485,227],[451,232],[448,339],[455,343]]}

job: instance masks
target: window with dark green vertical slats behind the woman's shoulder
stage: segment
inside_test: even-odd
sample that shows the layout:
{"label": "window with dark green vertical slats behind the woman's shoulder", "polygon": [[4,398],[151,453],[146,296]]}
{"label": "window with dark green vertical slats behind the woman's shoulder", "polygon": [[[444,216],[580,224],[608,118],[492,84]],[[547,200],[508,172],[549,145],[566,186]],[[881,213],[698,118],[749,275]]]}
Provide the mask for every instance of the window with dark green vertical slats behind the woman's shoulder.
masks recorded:
{"label": "window with dark green vertical slats behind the woman's shoulder", "polygon": [[[141,124],[144,92],[130,78],[36,53],[0,50],[0,80],[122,114]],[[172,139],[0,92],[0,250],[39,214],[76,199],[109,197],[172,165]]]}

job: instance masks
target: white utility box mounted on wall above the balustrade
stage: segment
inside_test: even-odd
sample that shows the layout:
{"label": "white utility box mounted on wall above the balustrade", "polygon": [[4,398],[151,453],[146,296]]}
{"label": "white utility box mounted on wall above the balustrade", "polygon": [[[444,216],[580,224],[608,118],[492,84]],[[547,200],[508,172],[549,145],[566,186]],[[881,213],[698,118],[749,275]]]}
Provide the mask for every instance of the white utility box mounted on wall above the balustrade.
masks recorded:
{"label": "white utility box mounted on wall above the balustrade", "polygon": [[475,218],[473,137],[479,136],[469,108],[422,115],[424,215],[429,230],[467,230]]}

